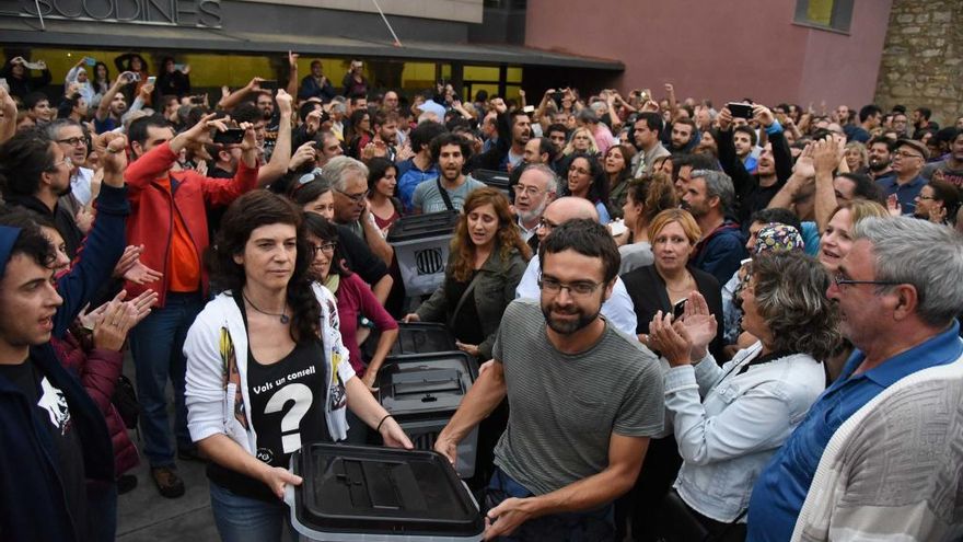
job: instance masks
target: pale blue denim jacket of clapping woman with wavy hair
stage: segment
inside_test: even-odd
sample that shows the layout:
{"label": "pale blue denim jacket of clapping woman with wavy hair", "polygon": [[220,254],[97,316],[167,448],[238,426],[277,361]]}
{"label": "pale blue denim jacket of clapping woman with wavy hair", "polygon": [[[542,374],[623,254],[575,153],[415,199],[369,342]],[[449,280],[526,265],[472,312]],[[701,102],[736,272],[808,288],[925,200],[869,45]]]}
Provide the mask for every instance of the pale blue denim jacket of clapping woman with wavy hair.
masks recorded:
{"label": "pale blue denim jacket of clapping woman with wavy hair", "polygon": [[761,351],[756,343],[722,368],[710,355],[664,377],[665,406],[684,460],[675,488],[688,506],[717,521],[733,521],[749,506],[759,472],[826,387],[822,364],[805,354],[740,374]]}

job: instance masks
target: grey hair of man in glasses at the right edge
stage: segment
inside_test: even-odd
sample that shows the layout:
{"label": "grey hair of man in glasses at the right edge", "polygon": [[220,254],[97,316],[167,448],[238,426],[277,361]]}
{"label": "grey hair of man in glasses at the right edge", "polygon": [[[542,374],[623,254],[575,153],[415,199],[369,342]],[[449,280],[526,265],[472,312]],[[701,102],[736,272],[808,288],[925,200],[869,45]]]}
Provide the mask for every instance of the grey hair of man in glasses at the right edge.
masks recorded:
{"label": "grey hair of man in glasses at the right edge", "polygon": [[875,279],[916,288],[916,314],[945,326],[963,307],[963,239],[945,226],[910,217],[865,218],[852,239],[872,243]]}

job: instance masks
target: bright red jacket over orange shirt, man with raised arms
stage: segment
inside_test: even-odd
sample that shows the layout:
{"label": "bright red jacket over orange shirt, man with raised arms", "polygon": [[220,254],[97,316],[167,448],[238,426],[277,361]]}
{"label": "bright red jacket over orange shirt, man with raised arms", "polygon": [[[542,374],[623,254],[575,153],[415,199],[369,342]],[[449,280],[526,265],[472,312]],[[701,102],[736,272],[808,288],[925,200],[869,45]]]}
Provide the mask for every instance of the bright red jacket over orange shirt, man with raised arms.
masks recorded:
{"label": "bright red jacket over orange shirt, man with raised arms", "polygon": [[[167,293],[167,257],[171,235],[174,231],[174,212],[181,215],[197,251],[198,263],[210,244],[207,227],[207,206],[227,206],[245,192],[257,186],[257,168],[247,168],[241,161],[233,180],[205,177],[193,170],[170,171],[176,155],[170,145],[159,145],[127,166],[127,197],[130,217],[127,219],[127,242],[143,244],[140,261],[143,265],[164,273],[164,276],[146,285],[128,282],[127,298],[132,299],[148,288],[159,293],[158,307],[163,307]],[[174,196],[167,187],[156,182],[170,174],[176,188]],[[201,288],[208,289],[207,270],[201,268]]]}

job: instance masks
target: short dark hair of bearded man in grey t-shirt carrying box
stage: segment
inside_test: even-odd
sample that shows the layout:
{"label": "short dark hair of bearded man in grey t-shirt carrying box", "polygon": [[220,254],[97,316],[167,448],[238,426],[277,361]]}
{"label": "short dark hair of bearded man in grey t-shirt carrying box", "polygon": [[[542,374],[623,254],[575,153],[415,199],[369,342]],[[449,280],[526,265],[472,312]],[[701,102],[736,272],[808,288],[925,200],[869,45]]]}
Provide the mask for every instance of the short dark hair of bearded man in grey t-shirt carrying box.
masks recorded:
{"label": "short dark hair of bearded man in grey t-shirt carrying box", "polygon": [[622,257],[608,229],[595,220],[577,218],[567,220],[552,230],[552,233],[538,243],[538,260],[545,264],[546,254],[557,254],[572,250],[583,256],[602,260],[603,277],[606,284],[618,275]]}

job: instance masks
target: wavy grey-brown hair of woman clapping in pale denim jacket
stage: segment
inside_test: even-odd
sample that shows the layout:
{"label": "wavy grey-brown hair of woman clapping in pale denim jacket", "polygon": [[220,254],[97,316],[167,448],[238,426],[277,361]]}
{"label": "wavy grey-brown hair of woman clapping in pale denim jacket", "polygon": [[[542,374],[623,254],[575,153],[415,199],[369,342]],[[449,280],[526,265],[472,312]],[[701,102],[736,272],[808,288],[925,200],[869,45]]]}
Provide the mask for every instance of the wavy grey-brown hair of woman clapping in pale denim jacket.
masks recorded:
{"label": "wavy grey-brown hair of woman clapping in pale denim jacket", "polygon": [[809,354],[819,361],[839,345],[839,312],[826,297],[829,275],[802,252],[764,252],[752,263],[754,296],[774,350]]}

